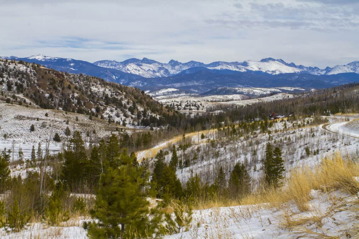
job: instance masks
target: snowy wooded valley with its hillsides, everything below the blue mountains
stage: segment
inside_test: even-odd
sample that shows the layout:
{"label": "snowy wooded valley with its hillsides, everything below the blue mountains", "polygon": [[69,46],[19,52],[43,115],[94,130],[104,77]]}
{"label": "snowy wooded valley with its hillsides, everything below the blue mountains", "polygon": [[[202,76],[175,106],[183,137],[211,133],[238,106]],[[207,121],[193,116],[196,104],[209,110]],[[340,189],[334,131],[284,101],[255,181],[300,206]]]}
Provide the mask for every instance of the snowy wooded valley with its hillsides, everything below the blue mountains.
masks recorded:
{"label": "snowy wooded valley with its hillsides, everything below the blue mountains", "polygon": [[[355,226],[339,228],[359,222],[358,84],[198,94],[20,61],[1,61],[0,72],[0,207],[27,216],[20,228],[0,208],[1,237],[87,238],[112,187],[141,189],[134,197],[153,215],[144,226],[160,221],[154,237],[356,236]],[[268,160],[278,163],[275,182]],[[122,179],[129,184],[114,186]],[[141,205],[111,195],[121,210]],[[50,214],[54,204],[61,213]]]}

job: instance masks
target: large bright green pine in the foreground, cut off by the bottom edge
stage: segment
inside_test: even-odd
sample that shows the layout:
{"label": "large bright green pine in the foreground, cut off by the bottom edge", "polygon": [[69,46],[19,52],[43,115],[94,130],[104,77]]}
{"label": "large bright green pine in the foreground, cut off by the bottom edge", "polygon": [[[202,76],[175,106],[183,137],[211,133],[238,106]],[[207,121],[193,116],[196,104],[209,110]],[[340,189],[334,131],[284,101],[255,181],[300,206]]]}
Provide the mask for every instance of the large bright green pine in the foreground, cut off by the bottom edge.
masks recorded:
{"label": "large bright green pine in the foreground, cut off by the bottom edge", "polygon": [[[121,162],[130,161],[121,154]],[[132,163],[107,169],[101,178],[94,209],[90,211],[89,238],[148,238],[158,233],[162,215],[149,209],[148,174]]]}

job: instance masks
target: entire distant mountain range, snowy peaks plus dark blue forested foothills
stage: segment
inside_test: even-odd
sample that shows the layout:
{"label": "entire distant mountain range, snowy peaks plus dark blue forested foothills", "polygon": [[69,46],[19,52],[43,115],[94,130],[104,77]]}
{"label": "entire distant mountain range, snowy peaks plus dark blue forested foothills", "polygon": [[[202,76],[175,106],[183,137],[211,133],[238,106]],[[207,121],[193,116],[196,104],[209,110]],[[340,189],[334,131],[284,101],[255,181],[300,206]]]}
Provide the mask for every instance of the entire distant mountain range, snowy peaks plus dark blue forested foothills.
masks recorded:
{"label": "entire distant mountain range, snowy peaks plus dark blue forested foothills", "polygon": [[141,90],[176,88],[195,94],[218,87],[286,86],[309,89],[359,82],[359,61],[320,69],[274,58],[209,64],[196,61],[181,63],[175,60],[161,63],[148,58],[93,63],[43,55],[0,58],[35,62],[57,71],[101,77],[106,81],[139,87]]}

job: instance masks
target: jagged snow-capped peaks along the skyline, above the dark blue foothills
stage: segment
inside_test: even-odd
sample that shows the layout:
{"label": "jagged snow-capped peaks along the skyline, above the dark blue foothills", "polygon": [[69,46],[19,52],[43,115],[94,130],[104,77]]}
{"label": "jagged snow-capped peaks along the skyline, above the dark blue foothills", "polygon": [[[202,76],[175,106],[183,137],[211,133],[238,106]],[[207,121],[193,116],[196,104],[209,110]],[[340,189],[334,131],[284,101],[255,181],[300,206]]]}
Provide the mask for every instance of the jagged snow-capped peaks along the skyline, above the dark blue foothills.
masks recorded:
{"label": "jagged snow-capped peaks along the skyline, above the dark blue foothills", "polygon": [[196,61],[181,63],[175,60],[171,60],[168,63],[161,63],[148,58],[143,58],[142,60],[131,58],[122,62],[104,60],[94,62],[94,64],[140,75],[146,78],[173,76],[193,67],[204,67],[216,71],[264,72],[271,75],[283,73],[306,73],[311,75],[332,75],[346,72],[359,73],[358,62],[352,62],[344,66],[320,69],[318,67],[306,67],[303,65],[297,66],[293,62],[287,63],[282,59],[274,58],[265,58],[261,59],[261,61],[247,60],[243,62],[217,61],[209,64]]}

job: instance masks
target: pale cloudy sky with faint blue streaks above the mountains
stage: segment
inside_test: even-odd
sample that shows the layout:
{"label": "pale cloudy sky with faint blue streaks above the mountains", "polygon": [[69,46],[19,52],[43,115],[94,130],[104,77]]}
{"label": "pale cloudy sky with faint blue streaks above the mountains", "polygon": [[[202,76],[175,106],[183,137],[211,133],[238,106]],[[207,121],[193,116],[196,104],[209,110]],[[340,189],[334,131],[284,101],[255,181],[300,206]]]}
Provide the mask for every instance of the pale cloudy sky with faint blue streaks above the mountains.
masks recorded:
{"label": "pale cloudy sky with faint blue streaks above the mountains", "polygon": [[358,0],[0,0],[0,56],[359,61]]}

